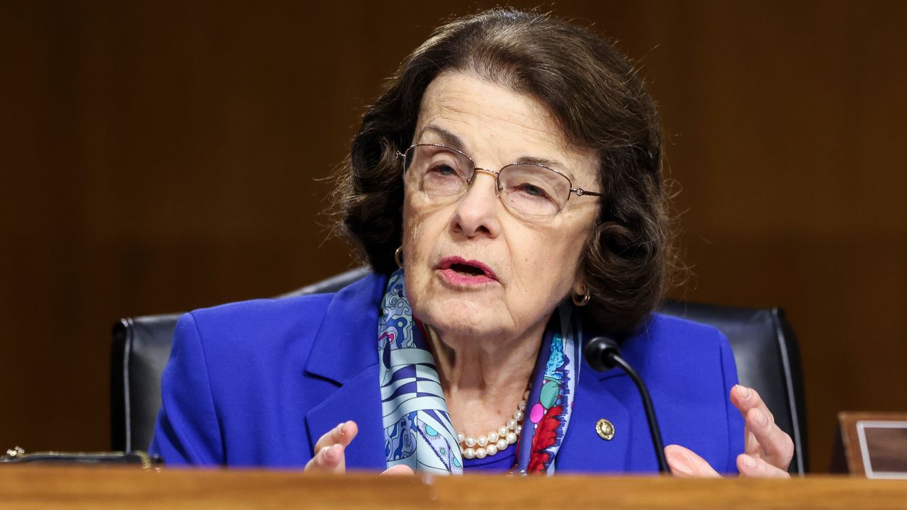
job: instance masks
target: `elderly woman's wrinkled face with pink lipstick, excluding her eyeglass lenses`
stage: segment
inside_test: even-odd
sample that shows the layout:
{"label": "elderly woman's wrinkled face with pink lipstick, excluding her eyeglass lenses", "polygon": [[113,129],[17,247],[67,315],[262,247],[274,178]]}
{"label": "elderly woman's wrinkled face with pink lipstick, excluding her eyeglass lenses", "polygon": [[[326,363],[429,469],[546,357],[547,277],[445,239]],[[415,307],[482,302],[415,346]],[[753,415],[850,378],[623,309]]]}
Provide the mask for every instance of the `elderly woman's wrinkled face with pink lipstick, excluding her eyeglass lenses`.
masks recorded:
{"label": "elderly woman's wrinkled face with pink lipstick, excluding her eyeglass lenses", "polygon": [[[494,172],[545,162],[574,188],[600,190],[595,153],[571,147],[541,103],[473,74],[448,72],[429,84],[413,143],[459,149]],[[414,316],[442,338],[541,336],[581,283],[580,254],[599,199],[572,195],[556,215],[532,217],[507,207],[495,187],[486,172],[454,196],[405,187],[406,289]]]}

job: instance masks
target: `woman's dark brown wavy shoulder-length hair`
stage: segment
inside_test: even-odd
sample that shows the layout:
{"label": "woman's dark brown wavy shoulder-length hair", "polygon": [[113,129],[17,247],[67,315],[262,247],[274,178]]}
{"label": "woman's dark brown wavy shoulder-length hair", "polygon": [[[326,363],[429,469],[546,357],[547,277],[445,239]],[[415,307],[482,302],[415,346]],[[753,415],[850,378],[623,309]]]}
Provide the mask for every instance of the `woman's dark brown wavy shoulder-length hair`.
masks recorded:
{"label": "woman's dark brown wavy shoulder-length hair", "polygon": [[627,59],[588,29],[551,15],[485,11],[434,31],[363,116],[334,202],[340,230],[372,268],[396,269],[404,183],[425,88],[445,71],[476,74],[545,105],[566,139],[599,156],[604,196],[580,258],[589,326],[623,331],[658,305],[673,267],[661,171],[661,124]]}

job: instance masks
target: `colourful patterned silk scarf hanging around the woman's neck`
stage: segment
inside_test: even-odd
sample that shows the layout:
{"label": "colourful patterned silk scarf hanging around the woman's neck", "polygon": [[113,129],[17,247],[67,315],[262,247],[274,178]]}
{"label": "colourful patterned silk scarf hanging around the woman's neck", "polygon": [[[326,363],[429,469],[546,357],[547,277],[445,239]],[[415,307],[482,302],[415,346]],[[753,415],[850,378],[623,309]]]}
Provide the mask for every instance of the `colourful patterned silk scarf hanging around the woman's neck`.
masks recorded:
{"label": "colourful patterned silk scarf hanging around the woman's neck", "polygon": [[[563,304],[545,329],[514,472],[554,473],[580,374],[582,338],[576,322],[571,305]],[[459,475],[463,456],[425,338],[406,299],[403,270],[397,270],[387,282],[378,318],[387,467],[405,464],[416,473]]]}

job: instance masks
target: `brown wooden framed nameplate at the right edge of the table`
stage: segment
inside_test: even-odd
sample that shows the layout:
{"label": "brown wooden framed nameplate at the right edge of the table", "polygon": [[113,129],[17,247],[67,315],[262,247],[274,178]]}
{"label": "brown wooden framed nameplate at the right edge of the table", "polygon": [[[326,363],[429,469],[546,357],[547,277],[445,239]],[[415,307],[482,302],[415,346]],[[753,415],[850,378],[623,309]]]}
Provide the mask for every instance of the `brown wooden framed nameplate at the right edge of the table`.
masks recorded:
{"label": "brown wooden framed nameplate at the right edge of the table", "polygon": [[907,479],[907,413],[840,413],[851,475]]}

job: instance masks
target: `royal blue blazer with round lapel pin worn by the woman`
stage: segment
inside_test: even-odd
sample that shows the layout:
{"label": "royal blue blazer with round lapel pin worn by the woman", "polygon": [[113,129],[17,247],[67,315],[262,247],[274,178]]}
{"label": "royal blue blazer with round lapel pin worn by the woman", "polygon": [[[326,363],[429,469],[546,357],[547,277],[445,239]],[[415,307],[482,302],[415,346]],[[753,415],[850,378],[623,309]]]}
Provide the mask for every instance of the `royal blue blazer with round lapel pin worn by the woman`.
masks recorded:
{"label": "royal blue blazer with round lapel pin worn by the woman", "polygon": [[[335,294],[260,299],[183,315],[161,382],[151,453],[169,465],[302,467],[318,437],[355,420],[349,469],[385,469],[377,314],[386,277]],[[589,334],[587,333],[587,338]],[[728,400],[736,367],[717,329],[654,314],[623,355],[649,385],[665,444],[736,472],[744,423]],[[614,436],[602,439],[606,418]],[[658,470],[632,381],[583,362],[559,473]]]}

